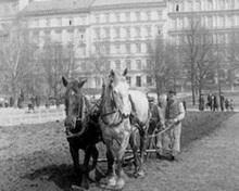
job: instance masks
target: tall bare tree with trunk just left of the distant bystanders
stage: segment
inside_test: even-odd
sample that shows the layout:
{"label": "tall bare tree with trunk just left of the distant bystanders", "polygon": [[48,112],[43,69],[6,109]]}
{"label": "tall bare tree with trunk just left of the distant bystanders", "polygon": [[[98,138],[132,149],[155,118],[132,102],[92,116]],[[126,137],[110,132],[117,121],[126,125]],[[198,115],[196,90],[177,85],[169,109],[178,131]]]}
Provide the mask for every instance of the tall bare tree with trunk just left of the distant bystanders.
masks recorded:
{"label": "tall bare tree with trunk just left of the distant bystanders", "polygon": [[212,34],[192,17],[189,22],[189,28],[183,35],[179,44],[181,60],[190,76],[192,104],[194,105],[197,90],[201,94],[206,76],[212,73],[215,64]]}

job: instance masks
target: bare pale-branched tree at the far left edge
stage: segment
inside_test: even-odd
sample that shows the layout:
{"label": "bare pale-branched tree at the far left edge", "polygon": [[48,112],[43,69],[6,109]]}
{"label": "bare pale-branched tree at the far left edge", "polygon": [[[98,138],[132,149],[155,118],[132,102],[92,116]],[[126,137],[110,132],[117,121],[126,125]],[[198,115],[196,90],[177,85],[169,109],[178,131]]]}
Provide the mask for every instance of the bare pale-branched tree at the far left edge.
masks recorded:
{"label": "bare pale-branched tree at the far left edge", "polygon": [[39,52],[28,40],[27,33],[21,23],[14,23],[14,25],[9,27],[8,36],[1,38],[0,59],[1,73],[8,79],[16,107],[23,80],[36,68]]}

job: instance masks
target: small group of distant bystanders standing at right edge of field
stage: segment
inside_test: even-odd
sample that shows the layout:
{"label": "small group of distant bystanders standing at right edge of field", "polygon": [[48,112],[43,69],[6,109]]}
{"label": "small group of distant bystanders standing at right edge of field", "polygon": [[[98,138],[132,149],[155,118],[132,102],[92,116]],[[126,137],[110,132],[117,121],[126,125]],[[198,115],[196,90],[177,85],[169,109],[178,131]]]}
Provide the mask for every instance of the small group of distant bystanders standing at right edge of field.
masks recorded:
{"label": "small group of distant bystanders standing at right edge of field", "polygon": [[210,109],[211,111],[234,111],[235,103],[234,100],[225,99],[223,93],[217,97],[216,94],[209,93],[206,98],[206,103],[202,94],[199,98],[199,110],[204,111],[204,109]]}

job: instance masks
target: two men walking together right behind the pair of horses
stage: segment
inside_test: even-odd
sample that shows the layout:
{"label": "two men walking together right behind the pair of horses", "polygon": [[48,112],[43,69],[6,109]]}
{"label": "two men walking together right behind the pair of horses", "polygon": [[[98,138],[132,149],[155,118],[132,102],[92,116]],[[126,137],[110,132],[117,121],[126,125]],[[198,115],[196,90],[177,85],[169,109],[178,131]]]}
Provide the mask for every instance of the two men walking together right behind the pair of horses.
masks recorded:
{"label": "two men walking together right behind the pair of horses", "polygon": [[[151,132],[149,133],[155,129],[158,156],[166,154],[171,161],[174,161],[180,152],[181,120],[185,117],[184,104],[177,100],[174,90],[168,91],[165,104],[156,103],[153,97],[148,99],[151,110],[149,127]],[[168,130],[165,130],[164,133],[155,132],[165,128]]]}

